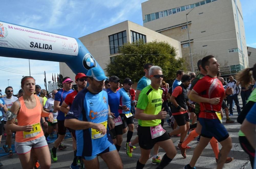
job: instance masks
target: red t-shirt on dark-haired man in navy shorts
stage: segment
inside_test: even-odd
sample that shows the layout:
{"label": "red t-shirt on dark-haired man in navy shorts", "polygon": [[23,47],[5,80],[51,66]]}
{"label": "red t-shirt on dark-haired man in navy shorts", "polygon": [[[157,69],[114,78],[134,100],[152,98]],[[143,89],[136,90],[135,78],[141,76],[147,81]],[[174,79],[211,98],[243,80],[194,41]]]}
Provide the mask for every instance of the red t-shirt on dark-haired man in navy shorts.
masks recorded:
{"label": "red t-shirt on dark-haired man in navy shorts", "polygon": [[218,118],[215,113],[205,112],[205,110],[214,112],[220,111],[222,98],[223,95],[225,94],[225,90],[220,80],[218,78],[212,78],[209,75],[206,75],[202,79],[198,80],[198,82],[195,84],[192,90],[194,90],[197,94],[199,94],[199,96],[202,96],[204,98],[212,99],[220,97],[220,102],[216,105],[201,102],[199,113],[200,118]]}

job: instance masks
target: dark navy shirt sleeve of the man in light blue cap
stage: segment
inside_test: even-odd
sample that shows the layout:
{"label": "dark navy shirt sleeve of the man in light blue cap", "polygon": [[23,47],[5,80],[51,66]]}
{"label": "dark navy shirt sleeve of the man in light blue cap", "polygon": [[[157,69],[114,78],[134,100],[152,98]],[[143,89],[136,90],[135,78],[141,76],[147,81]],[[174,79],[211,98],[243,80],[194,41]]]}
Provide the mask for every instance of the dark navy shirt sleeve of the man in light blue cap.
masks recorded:
{"label": "dark navy shirt sleeve of the man in light blue cap", "polygon": [[85,97],[85,93],[81,92],[78,93],[70,107],[70,110],[66,116],[66,119],[78,119],[80,114],[84,111],[84,97]]}

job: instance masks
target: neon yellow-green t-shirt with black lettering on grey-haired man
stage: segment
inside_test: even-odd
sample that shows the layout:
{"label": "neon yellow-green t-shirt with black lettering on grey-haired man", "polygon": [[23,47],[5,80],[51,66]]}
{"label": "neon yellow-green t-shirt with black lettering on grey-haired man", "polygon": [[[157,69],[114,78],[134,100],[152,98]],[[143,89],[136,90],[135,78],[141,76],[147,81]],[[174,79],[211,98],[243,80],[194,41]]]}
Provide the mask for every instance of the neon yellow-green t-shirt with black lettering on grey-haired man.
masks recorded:
{"label": "neon yellow-green t-shirt with black lettering on grey-haired man", "polygon": [[[144,110],[144,113],[156,115],[162,109],[162,94],[163,90],[160,88],[155,90],[151,85],[145,87],[138,99],[137,108]],[[160,119],[155,120],[140,120],[138,119],[138,123],[143,127],[153,127],[157,126],[161,123]]]}

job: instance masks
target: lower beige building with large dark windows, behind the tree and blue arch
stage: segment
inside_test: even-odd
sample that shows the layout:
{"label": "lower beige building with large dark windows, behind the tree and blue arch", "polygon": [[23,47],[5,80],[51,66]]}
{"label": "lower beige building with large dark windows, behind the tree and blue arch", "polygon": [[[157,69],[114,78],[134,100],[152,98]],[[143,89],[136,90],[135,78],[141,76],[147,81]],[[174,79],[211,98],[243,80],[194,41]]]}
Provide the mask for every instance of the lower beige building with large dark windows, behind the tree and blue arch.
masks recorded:
{"label": "lower beige building with large dark windows, behind the tree and blue arch", "polygon": [[[177,57],[182,57],[180,42],[161,33],[145,28],[131,21],[124,21],[97,32],[79,38],[88,51],[104,69],[106,63],[114,56],[119,55],[118,46],[123,43],[143,39],[144,42],[154,40],[165,41],[177,49]],[[60,74],[74,80],[75,74],[65,64],[60,63]]]}

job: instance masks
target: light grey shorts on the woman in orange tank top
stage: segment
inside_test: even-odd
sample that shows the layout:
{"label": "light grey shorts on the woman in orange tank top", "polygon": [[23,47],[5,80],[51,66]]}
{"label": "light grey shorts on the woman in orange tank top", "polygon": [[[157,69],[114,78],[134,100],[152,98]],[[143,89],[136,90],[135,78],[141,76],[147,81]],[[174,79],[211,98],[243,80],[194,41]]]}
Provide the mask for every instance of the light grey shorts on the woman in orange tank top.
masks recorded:
{"label": "light grey shorts on the woman in orange tank top", "polygon": [[31,148],[38,149],[45,146],[48,146],[45,136],[39,137],[35,140],[26,141],[26,142],[16,142],[15,141],[15,150],[17,154],[26,154],[31,151]]}

